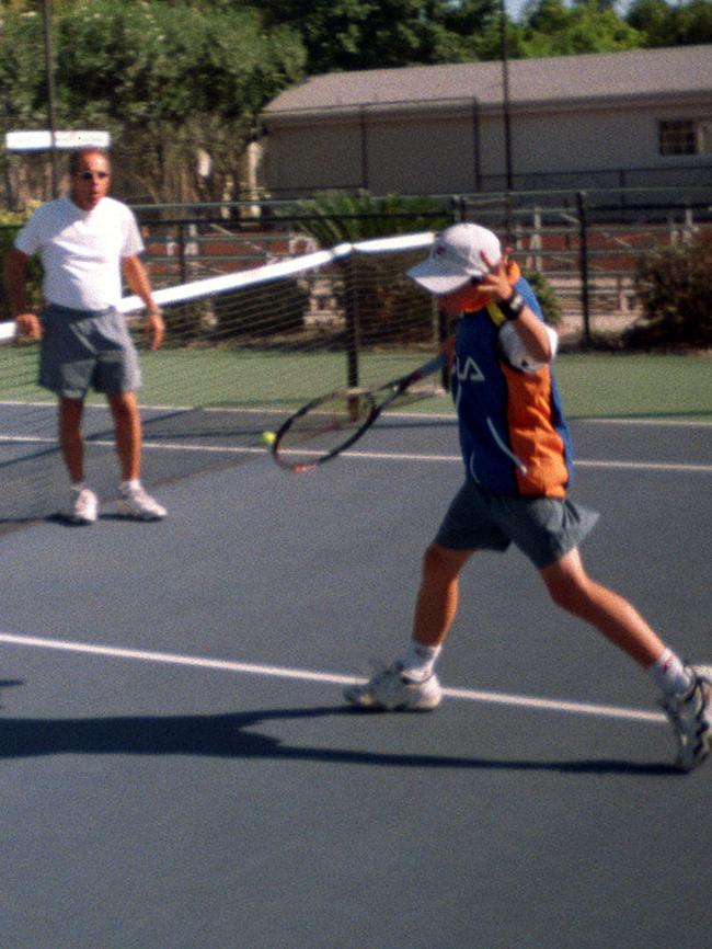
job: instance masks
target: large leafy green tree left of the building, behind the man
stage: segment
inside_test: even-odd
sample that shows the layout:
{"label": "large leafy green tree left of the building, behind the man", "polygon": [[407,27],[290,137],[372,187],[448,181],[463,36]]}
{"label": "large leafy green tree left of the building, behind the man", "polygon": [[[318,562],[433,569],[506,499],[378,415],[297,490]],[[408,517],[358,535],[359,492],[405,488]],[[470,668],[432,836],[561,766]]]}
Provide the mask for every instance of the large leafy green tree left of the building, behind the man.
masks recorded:
{"label": "large leafy green tree left of the building, behind the man", "polygon": [[[154,201],[239,196],[256,115],[306,58],[294,30],[266,33],[256,10],[236,4],[76,0],[56,12],[54,33],[58,123],[107,128],[122,173]],[[3,14],[1,43],[5,124],[44,126],[41,18]],[[198,152],[209,174],[198,174]]]}

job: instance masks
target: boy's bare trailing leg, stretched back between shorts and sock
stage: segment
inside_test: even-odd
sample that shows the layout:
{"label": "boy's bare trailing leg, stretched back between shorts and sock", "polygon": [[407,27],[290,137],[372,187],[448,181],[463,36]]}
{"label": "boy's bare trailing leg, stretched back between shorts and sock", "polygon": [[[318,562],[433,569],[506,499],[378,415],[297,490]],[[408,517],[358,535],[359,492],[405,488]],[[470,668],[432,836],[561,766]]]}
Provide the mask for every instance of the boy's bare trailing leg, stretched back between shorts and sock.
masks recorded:
{"label": "boy's bare trailing leg, stretched back between shorts and sock", "polygon": [[595,626],[644,668],[665,652],[665,644],[622,596],[592,580],[577,549],[544,567],[541,576],[558,606]]}

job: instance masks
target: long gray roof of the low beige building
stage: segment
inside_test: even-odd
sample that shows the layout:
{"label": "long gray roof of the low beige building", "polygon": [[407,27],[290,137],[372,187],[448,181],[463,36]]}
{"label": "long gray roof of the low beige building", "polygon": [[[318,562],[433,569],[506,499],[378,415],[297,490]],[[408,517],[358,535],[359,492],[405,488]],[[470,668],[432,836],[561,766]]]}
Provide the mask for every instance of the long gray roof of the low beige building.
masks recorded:
{"label": "long gray roof of the low beige building", "polygon": [[[712,94],[712,45],[556,56],[509,61],[513,104],[631,100]],[[285,90],[264,116],[351,111],[360,105],[478,100],[502,102],[501,62],[460,62],[313,76]],[[286,116],[285,116],[286,117]],[[294,116],[297,117],[296,115]]]}

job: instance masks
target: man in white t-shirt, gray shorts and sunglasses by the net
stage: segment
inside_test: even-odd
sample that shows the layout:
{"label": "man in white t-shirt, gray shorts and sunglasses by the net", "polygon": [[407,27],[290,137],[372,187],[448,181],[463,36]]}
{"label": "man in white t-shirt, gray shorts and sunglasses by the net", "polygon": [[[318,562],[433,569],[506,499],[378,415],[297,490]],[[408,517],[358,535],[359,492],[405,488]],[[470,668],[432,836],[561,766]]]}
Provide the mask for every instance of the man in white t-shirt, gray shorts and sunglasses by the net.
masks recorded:
{"label": "man in white t-shirt, gray shorts and sunglasses by the net", "polygon": [[[42,340],[39,384],[59,398],[59,442],[71,480],[70,517],[96,521],[99,502],[84,481],[81,420],[89,388],[103,392],[111,407],[122,480],[116,511],[126,517],[157,521],[165,510],[141,487],[141,420],[136,399],[141,376],[138,355],[124,317],[122,275],[147,308],[152,350],[164,324],[139,259],[143,241],[133,211],[107,197],[108,156],[101,149],[72,152],[68,195],[38,208],[15,239],[5,260],[5,281],[20,333]],[[30,258],[42,261],[45,308],[26,302]]]}

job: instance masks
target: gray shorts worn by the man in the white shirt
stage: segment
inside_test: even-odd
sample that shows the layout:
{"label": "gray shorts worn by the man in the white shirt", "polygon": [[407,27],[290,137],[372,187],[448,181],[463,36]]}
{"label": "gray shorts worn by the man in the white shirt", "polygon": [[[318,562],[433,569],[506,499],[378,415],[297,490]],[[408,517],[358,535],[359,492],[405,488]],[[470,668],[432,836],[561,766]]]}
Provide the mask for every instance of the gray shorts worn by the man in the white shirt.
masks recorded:
{"label": "gray shorts worn by the man in the white shirt", "polygon": [[140,388],[138,353],[122,313],[49,304],[42,325],[41,386],[67,399],[83,399],[90,388],[106,396]]}

